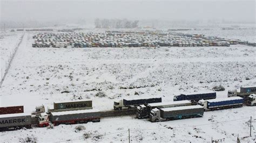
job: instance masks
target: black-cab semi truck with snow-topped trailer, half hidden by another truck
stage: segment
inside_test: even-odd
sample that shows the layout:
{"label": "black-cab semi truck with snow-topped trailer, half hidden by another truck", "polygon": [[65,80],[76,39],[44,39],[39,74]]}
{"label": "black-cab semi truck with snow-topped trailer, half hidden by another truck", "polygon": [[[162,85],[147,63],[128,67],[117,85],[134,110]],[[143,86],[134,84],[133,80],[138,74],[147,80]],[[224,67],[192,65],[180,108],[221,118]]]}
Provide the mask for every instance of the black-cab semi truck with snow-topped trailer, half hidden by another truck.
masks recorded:
{"label": "black-cab semi truck with snow-topped trailer, half hidden by another truck", "polygon": [[137,107],[136,116],[139,119],[149,118],[150,111],[154,108],[171,108],[177,106],[188,106],[191,105],[190,101],[175,101],[175,102],[161,102],[161,103],[150,103],[147,105],[139,105]]}

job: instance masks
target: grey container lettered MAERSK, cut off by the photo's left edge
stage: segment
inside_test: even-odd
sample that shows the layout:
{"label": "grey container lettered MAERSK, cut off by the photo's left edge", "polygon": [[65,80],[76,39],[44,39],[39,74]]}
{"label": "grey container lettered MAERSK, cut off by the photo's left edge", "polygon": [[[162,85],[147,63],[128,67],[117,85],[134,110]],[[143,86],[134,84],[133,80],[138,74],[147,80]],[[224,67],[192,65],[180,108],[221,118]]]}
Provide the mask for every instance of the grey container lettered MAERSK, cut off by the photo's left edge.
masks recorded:
{"label": "grey container lettered MAERSK, cut off by the photo's left edge", "polygon": [[14,113],[0,115],[0,131],[19,130],[31,128],[31,115],[29,113]]}

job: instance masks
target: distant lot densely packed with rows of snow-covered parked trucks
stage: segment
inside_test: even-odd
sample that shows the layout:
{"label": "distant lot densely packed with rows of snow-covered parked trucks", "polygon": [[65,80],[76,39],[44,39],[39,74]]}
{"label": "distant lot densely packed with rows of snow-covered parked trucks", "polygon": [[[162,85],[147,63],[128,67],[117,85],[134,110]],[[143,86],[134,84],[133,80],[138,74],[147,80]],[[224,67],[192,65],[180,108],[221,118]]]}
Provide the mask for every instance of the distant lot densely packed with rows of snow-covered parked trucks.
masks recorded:
{"label": "distant lot densely packed with rows of snow-covered parked trucks", "polygon": [[209,47],[247,45],[239,39],[169,31],[105,31],[104,33],[43,33],[33,35],[32,47]]}

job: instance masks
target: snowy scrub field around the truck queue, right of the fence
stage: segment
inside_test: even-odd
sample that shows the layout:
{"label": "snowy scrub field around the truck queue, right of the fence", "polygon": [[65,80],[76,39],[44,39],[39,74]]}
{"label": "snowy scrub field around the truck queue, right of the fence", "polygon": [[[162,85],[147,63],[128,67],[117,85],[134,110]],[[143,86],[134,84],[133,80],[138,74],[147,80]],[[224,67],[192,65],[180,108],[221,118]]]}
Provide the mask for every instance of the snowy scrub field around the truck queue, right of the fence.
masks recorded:
{"label": "snowy scrub field around the truck queue, right of the fence", "polygon": [[[51,107],[53,102],[92,99],[93,108],[111,110],[122,98],[162,97],[212,92],[215,85],[228,89],[256,85],[256,48],[160,47],[160,48],[32,48],[32,33],[24,35],[0,90],[0,106]],[[247,79],[247,80],[246,80]],[[65,92],[63,92],[65,91]],[[67,93],[68,92],[68,93]],[[96,94],[103,92],[104,96]],[[151,123],[135,117],[104,118],[99,123],[59,125],[0,133],[0,142],[255,142],[256,107],[205,112],[202,118]],[[250,116],[252,137],[250,135]]]}

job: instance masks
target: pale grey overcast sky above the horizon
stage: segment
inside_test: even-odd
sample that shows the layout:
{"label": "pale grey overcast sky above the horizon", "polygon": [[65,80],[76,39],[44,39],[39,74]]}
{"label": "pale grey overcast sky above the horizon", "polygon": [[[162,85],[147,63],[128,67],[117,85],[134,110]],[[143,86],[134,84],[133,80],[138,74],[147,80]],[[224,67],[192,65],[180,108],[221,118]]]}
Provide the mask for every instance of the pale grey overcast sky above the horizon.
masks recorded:
{"label": "pale grey overcast sky above the horizon", "polygon": [[3,1],[1,20],[24,22],[94,18],[255,22],[255,1]]}

